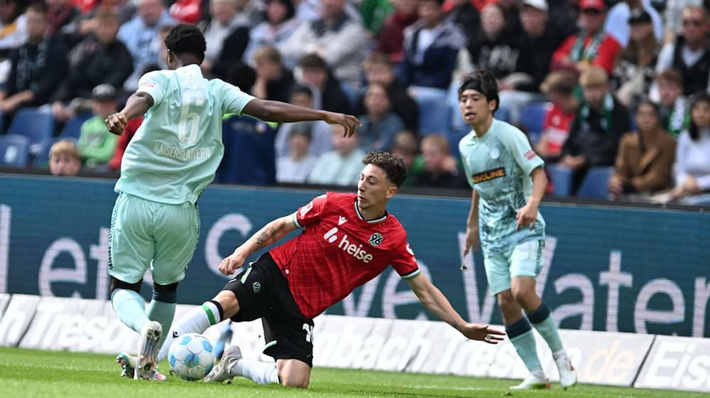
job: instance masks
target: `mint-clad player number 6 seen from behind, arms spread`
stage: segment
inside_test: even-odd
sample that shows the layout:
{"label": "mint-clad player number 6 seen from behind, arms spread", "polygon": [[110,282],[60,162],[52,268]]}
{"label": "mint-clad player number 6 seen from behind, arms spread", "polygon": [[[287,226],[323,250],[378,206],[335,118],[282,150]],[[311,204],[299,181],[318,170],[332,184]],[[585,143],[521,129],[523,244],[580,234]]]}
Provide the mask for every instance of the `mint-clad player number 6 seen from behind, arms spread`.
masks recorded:
{"label": "mint-clad player number 6 seen from behind, arms spread", "polygon": [[[173,322],[178,282],[197,244],[197,198],[224,154],[224,114],[269,122],[324,120],[342,124],[346,135],[359,125],[352,116],[263,101],[222,80],[205,79],[204,36],[195,26],[173,27],[165,45],[170,70],[143,75],[126,107],[106,119],[109,131],[120,135],[130,119],[146,115],[121,162],[109,234],[111,303],[119,319],[141,333],[137,365],[128,355],[116,360],[124,375],[146,380],[162,378],[155,355]],[[146,310],[138,292],[148,267],[154,283]]]}

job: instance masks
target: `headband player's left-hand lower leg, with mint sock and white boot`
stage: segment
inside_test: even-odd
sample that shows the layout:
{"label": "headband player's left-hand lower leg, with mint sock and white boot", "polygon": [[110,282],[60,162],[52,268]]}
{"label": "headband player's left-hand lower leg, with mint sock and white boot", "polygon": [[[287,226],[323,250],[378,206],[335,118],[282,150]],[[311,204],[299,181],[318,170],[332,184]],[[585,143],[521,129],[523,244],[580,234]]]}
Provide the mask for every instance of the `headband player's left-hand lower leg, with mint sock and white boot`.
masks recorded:
{"label": "headband player's left-hand lower leg, with mint sock and white boot", "polygon": [[510,343],[513,343],[513,347],[515,347],[518,356],[520,356],[520,359],[525,363],[525,367],[530,371],[530,375],[528,375],[522,383],[510,388],[550,388],[550,381],[545,377],[545,372],[542,371],[542,365],[540,364],[540,358],[537,357],[535,335],[532,334],[532,327],[528,322],[528,318],[523,316],[523,310],[520,308],[520,304],[515,301],[513,291],[510,289],[501,291],[501,293],[496,295],[496,298],[498,298],[498,307],[501,308],[503,323],[506,325],[506,333],[508,333]]}

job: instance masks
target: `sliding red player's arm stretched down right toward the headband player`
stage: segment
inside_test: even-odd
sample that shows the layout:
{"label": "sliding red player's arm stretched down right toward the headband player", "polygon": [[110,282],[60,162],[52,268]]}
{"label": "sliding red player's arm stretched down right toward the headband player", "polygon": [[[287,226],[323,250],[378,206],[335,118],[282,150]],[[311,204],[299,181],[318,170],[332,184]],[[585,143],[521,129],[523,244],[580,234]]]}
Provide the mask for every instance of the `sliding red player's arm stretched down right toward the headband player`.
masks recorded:
{"label": "sliding red player's arm stretched down right toward the headband player", "polygon": [[429,311],[432,311],[436,316],[442,318],[442,321],[459,330],[466,338],[484,341],[488,344],[498,344],[498,342],[503,340],[501,336],[506,333],[500,330],[493,329],[488,325],[464,321],[451,306],[446,296],[426,276],[419,274],[412,279],[408,279],[408,282],[419,301]]}

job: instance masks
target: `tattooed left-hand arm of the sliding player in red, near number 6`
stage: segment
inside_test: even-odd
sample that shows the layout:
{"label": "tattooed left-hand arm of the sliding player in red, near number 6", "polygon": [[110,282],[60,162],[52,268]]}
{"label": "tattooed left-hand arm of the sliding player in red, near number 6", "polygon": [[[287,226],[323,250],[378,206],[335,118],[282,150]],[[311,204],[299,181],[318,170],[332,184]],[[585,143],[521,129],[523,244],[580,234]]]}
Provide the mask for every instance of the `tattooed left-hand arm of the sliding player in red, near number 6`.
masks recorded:
{"label": "tattooed left-hand arm of the sliding player in red, near number 6", "polygon": [[219,264],[219,272],[224,276],[234,274],[234,271],[239,269],[253,252],[278,242],[288,232],[297,229],[293,222],[294,217],[293,214],[285,215],[264,225],[256,234],[251,235],[249,240],[234,249],[234,253],[222,260]]}

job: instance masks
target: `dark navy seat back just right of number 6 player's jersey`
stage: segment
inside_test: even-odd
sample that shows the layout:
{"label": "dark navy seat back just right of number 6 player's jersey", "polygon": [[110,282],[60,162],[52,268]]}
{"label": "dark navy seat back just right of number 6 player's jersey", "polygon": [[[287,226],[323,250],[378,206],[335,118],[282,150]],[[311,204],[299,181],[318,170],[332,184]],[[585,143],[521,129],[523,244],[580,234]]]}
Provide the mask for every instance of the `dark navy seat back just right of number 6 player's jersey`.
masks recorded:
{"label": "dark navy seat back just right of number 6 player's jersey", "polygon": [[232,116],[222,124],[224,158],[217,182],[245,185],[276,183],[276,130],[253,117]]}

